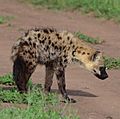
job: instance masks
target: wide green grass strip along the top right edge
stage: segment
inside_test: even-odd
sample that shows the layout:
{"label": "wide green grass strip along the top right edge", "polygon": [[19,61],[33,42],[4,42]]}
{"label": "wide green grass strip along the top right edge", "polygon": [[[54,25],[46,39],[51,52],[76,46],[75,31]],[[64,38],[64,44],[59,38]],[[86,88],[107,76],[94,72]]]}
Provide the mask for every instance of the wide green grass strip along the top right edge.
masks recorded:
{"label": "wide green grass strip along the top right edge", "polygon": [[92,12],[96,17],[120,21],[120,0],[27,0],[48,9]]}

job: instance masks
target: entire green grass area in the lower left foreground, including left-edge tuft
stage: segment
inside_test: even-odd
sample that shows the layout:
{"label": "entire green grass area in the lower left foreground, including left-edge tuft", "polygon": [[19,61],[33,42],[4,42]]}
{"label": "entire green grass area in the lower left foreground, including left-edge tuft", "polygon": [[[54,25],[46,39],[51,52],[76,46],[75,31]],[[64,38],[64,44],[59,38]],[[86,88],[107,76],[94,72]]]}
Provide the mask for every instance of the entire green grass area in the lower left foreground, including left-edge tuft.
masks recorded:
{"label": "entire green grass area in the lower left foreground, including left-edge tuft", "polygon": [[[3,79],[2,79],[3,78]],[[0,84],[7,86],[5,82],[9,80],[12,83],[11,74],[1,76]],[[31,86],[32,85],[32,86]],[[0,119],[80,119],[76,113],[69,113],[65,107],[60,107],[60,100],[55,93],[46,95],[42,91],[41,85],[28,84],[27,94],[20,94],[16,87],[11,89],[0,88],[0,102],[13,104],[10,108],[0,108]],[[15,106],[16,104],[25,104],[25,108]],[[66,115],[67,113],[67,115]]]}

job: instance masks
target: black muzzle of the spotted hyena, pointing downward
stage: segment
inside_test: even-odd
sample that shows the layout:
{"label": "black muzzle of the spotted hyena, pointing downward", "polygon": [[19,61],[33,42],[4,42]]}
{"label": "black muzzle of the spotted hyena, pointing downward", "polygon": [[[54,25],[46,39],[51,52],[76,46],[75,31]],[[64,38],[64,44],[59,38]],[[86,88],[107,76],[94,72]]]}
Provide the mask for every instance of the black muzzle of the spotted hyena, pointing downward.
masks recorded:
{"label": "black muzzle of the spotted hyena, pointing downward", "polygon": [[106,72],[106,67],[100,67],[99,70],[100,70],[100,74],[98,74],[98,73],[94,74],[97,78],[99,78],[101,80],[108,78],[108,74]]}

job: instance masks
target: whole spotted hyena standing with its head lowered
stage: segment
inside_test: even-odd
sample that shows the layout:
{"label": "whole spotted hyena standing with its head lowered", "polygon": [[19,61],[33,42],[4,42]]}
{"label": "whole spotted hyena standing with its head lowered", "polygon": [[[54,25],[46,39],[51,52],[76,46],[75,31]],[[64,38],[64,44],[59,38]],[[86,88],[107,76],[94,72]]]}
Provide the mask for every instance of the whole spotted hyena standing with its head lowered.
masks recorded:
{"label": "whole spotted hyena standing with its head lowered", "polygon": [[66,92],[65,67],[77,62],[99,79],[108,77],[100,51],[90,47],[74,34],[51,28],[28,30],[12,47],[13,78],[20,92],[26,92],[26,84],[38,64],[45,65],[44,89],[50,92],[53,75],[58,81],[62,96],[70,99]]}

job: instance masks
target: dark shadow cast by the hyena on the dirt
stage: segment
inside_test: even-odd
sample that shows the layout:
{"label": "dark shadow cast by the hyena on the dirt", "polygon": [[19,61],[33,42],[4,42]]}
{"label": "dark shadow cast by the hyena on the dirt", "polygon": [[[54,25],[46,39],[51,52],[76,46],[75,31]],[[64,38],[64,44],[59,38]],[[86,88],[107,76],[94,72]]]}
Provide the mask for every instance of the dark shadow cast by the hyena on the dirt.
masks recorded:
{"label": "dark shadow cast by the hyena on the dirt", "polygon": [[[55,93],[55,92],[60,93],[57,89],[52,89],[52,92],[53,93]],[[70,90],[70,89],[67,89],[67,93],[68,93],[68,95],[71,95],[71,96],[98,97],[97,95],[94,95],[92,93],[82,91],[82,90]]]}

